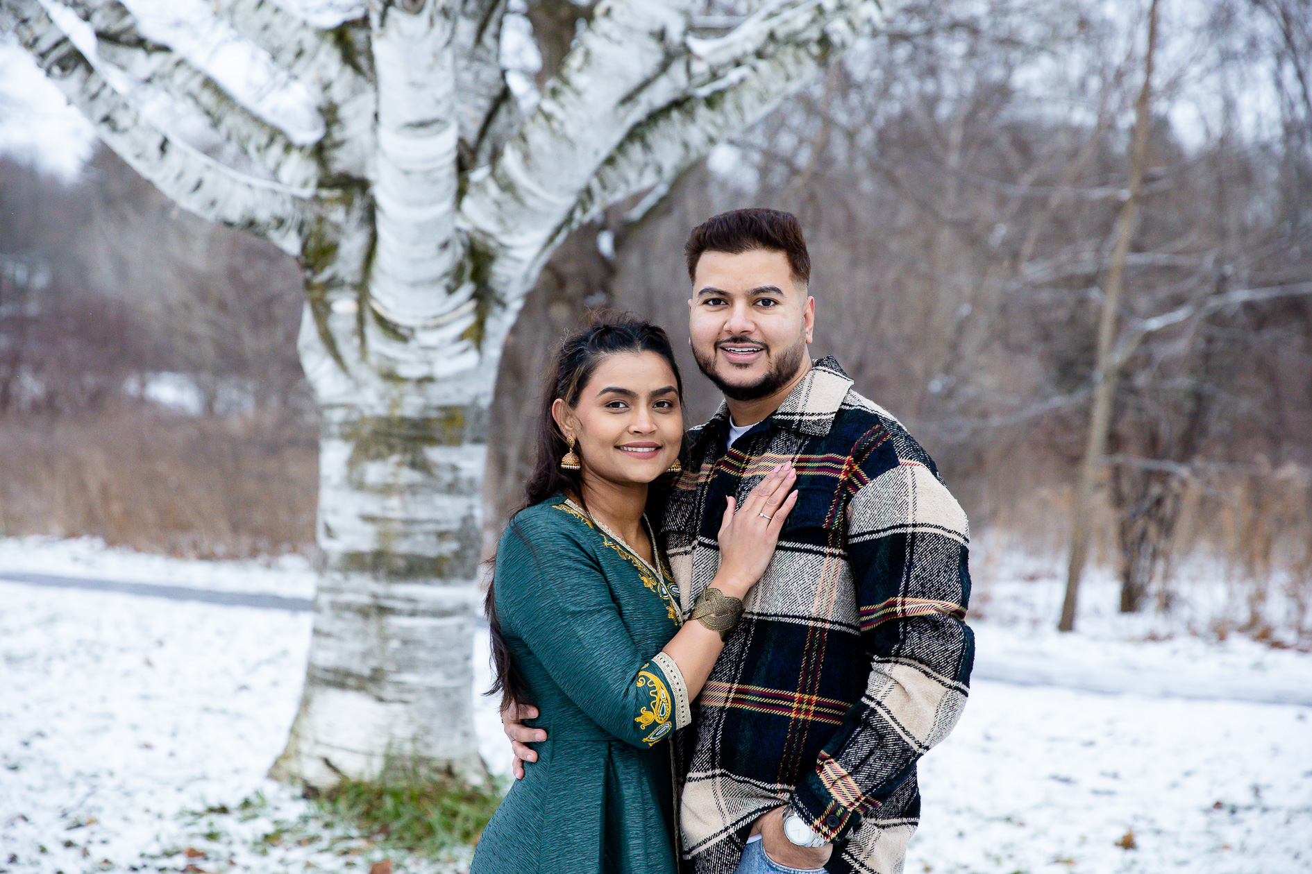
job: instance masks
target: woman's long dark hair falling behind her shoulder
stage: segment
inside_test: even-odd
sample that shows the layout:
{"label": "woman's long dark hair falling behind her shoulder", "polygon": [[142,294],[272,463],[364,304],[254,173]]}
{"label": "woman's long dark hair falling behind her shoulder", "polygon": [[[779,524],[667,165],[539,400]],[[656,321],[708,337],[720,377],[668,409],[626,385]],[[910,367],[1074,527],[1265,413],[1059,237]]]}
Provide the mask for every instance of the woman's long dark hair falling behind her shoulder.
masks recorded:
{"label": "woman's long dark hair falling behind her shoulder", "polygon": [[[584,325],[565,337],[556,349],[538,405],[537,460],[523,487],[523,504],[514,514],[510,514],[508,524],[514,524],[514,515],[521,510],[542,503],[558,493],[583,499],[583,470],[565,470],[560,466],[560,459],[569,451],[569,444],[565,442],[564,434],[560,432],[555,417],[551,415],[551,406],[558,397],[563,398],[568,406],[576,406],[579,396],[596,372],[597,364],[607,355],[617,352],[656,352],[664,358],[670,370],[674,371],[674,385],[678,388],[678,398],[682,402],[684,379],[674,362],[674,350],[669,345],[669,337],[659,325],[626,312],[596,311],[590,313]],[[682,455],[682,448],[680,455]],[[657,484],[652,485],[657,486]],[[648,490],[648,504],[661,501],[660,493],[663,491],[659,486]],[[652,545],[655,546],[655,544]],[[491,562],[496,562],[495,556]],[[493,668],[492,688],[485,694],[500,692],[502,709],[509,704],[527,704],[523,676],[510,656],[505,637],[501,634],[501,622],[497,621],[495,583],[488,584],[483,611],[487,613],[492,636]]]}

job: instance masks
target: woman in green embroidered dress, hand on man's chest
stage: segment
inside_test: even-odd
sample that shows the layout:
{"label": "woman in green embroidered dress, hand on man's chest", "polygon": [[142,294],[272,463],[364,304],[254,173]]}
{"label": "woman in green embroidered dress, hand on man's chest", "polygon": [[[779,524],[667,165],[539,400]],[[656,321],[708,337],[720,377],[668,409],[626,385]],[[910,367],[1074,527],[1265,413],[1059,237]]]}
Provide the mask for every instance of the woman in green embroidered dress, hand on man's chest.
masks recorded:
{"label": "woman in green embroidered dress, hand on man's chest", "polygon": [[[470,874],[673,874],[670,735],[711,672],[796,501],[787,465],[719,531],[720,566],[684,621],[647,523],[677,472],[682,381],[669,338],[605,314],[564,341],[543,393],[526,508],[497,548],[487,613],[493,692],[547,730],[474,853]],[[666,484],[668,485],[668,484]]]}

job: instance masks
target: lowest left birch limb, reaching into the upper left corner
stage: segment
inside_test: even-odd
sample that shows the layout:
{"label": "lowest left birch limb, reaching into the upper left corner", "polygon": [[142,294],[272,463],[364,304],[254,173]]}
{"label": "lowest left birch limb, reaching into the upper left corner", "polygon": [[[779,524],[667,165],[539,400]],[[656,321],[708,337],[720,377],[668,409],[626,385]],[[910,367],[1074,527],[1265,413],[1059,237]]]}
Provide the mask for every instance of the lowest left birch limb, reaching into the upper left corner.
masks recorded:
{"label": "lowest left birch limb, reaching into the upper left corner", "polygon": [[0,26],[18,38],[101,139],[167,197],[205,219],[258,233],[285,252],[299,250],[314,210],[297,191],[244,177],[155,130],[37,0],[0,0]]}

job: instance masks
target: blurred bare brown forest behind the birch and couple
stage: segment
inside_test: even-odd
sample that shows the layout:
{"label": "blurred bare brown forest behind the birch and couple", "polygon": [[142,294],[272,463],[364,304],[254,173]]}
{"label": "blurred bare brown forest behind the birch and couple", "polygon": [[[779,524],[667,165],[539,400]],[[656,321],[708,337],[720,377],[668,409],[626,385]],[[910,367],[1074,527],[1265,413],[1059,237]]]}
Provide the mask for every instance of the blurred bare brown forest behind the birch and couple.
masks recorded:
{"label": "blurred bare brown forest behind the birch and couple", "polygon": [[[1249,580],[1245,630],[1265,633],[1277,584],[1302,641],[1309,12],[1253,0],[1164,21],[1094,525],[1124,609],[1169,609],[1181,563],[1202,556]],[[580,14],[530,5],[542,80]],[[837,355],[926,446],[976,536],[1061,554],[1143,50],[1141,17],[1101,4],[914,4],[668,191],[575,232],[501,362],[488,541],[520,502],[543,363],[586,308],[665,325],[690,423],[714,410],[678,341],[682,244],[714,212],[774,206],[808,235],[813,354]],[[0,160],[0,535],[311,552],[300,295],[281,253],[177,211],[104,148],[72,186]]]}

